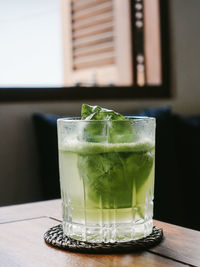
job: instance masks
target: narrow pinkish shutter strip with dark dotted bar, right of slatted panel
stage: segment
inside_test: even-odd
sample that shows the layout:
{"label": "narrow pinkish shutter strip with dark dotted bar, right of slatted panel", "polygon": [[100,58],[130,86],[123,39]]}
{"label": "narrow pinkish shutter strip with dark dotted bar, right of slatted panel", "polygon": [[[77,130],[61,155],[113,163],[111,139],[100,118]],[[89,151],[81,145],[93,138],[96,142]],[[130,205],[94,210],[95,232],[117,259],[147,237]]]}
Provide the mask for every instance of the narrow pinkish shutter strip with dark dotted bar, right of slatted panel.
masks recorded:
{"label": "narrow pinkish shutter strip with dark dotted bar, right of slatted panel", "polygon": [[[163,0],[161,0],[163,1]],[[162,84],[160,0],[133,0],[135,82]]]}

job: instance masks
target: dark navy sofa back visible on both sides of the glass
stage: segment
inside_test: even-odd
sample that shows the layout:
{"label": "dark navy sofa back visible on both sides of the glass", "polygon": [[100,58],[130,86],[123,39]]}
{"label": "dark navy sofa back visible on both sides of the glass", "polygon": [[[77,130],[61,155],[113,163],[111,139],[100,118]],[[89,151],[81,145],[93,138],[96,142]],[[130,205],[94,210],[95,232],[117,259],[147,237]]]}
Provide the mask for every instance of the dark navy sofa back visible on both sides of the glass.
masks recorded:
{"label": "dark navy sofa back visible on both sides of the glass", "polygon": [[[200,117],[184,117],[169,107],[127,115],[156,118],[154,218],[200,230]],[[60,197],[57,128],[59,116],[35,113],[43,199]]]}

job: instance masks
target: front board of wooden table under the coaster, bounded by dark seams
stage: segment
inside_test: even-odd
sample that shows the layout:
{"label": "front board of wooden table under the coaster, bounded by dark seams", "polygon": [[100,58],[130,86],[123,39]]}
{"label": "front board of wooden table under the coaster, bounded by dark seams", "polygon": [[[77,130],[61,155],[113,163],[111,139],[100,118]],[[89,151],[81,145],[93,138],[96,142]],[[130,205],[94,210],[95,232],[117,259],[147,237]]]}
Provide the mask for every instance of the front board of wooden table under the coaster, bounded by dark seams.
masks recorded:
{"label": "front board of wooden table under the coaster, bounded by dark seams", "polygon": [[62,251],[43,241],[44,232],[57,223],[48,218],[0,225],[0,263],[19,266],[185,266],[150,252],[94,255]]}

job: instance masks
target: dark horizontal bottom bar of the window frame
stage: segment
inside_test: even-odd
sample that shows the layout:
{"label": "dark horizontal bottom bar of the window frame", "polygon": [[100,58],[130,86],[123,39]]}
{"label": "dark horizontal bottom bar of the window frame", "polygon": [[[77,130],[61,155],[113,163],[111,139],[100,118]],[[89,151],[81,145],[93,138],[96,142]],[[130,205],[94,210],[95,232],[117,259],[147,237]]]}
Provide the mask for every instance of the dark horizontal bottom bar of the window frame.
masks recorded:
{"label": "dark horizontal bottom bar of the window frame", "polygon": [[89,99],[156,99],[168,98],[166,86],[103,86],[103,87],[6,87],[0,88],[0,102],[67,101]]}

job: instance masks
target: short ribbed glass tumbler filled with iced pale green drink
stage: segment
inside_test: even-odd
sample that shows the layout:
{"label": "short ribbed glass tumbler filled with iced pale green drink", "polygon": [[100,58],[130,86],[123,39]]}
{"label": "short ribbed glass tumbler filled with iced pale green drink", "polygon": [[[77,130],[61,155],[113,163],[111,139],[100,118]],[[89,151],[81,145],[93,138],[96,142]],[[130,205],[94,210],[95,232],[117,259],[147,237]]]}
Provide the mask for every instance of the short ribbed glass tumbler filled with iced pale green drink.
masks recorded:
{"label": "short ribbed glass tumbler filled with iced pale green drink", "polygon": [[59,119],[58,136],[64,233],[88,242],[149,235],[155,120]]}

